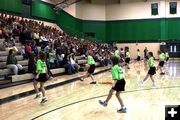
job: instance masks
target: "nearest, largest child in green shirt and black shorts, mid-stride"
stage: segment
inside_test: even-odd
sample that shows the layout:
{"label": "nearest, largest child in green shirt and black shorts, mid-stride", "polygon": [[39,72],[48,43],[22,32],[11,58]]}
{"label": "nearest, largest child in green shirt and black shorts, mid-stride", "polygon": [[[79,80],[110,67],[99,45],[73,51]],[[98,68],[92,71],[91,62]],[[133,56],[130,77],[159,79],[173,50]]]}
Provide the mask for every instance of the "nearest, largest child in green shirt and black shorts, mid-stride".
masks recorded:
{"label": "nearest, largest child in green shirt and black shorts, mid-stride", "polygon": [[125,80],[124,80],[124,72],[122,68],[118,65],[119,64],[119,59],[117,57],[112,58],[112,88],[109,91],[108,97],[106,98],[105,101],[99,100],[99,103],[106,107],[108,105],[109,100],[111,99],[113,92],[116,91],[116,97],[121,105],[121,109],[117,110],[118,113],[125,113],[126,112],[126,107],[124,106],[123,100],[120,97],[120,93],[122,91],[125,91]]}

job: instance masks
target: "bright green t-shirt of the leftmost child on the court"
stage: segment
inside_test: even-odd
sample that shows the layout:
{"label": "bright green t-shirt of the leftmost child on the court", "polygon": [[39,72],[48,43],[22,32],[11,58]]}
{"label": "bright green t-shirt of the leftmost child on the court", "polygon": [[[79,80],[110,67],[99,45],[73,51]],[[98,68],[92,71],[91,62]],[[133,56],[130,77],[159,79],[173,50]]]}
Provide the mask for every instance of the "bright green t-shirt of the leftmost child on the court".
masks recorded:
{"label": "bright green t-shirt of the leftmost child on the court", "polygon": [[46,71],[47,71],[46,62],[43,62],[41,59],[39,59],[36,65],[36,73],[38,72],[46,73]]}

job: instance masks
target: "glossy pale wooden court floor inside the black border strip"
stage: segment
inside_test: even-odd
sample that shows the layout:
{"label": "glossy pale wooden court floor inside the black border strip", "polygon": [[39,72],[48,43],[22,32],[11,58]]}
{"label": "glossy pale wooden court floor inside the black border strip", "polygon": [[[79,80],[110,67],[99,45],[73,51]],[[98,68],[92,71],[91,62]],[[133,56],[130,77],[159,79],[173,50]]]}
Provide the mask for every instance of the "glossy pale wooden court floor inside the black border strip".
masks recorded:
{"label": "glossy pale wooden court floor inside the black border strip", "polygon": [[[171,61],[167,74],[155,75],[157,88],[151,88],[151,80],[139,84],[147,73],[141,62],[132,63],[126,70],[126,91],[122,98],[127,113],[116,113],[120,105],[115,96],[105,108],[98,100],[104,100],[111,85],[109,71],[95,75],[98,84],[90,85],[90,79],[76,81],[48,90],[49,101],[40,104],[34,95],[0,105],[1,120],[164,120],[165,105],[180,105],[180,62]],[[140,73],[138,74],[138,70]],[[82,73],[81,73],[82,74]],[[23,88],[24,89],[24,88]]]}

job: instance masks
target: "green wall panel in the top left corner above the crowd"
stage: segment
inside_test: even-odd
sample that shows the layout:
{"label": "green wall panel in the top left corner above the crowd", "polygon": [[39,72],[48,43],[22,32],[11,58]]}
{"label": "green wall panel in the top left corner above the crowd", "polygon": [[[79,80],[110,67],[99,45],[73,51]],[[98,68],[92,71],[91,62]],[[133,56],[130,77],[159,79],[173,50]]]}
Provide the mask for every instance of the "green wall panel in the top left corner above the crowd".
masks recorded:
{"label": "green wall panel in the top left corner above the crowd", "polygon": [[0,9],[15,13],[22,12],[21,0],[0,0]]}

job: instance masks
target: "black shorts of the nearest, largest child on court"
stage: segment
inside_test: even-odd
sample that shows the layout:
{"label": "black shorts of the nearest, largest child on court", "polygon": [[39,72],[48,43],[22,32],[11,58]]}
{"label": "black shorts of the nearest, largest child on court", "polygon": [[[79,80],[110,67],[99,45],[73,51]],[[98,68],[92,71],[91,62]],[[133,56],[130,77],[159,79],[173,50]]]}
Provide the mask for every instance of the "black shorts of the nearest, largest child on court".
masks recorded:
{"label": "black shorts of the nearest, largest child on court", "polygon": [[117,80],[116,85],[112,88],[116,92],[125,91],[126,81],[124,79]]}

